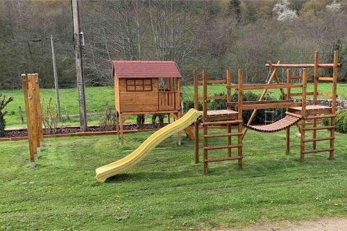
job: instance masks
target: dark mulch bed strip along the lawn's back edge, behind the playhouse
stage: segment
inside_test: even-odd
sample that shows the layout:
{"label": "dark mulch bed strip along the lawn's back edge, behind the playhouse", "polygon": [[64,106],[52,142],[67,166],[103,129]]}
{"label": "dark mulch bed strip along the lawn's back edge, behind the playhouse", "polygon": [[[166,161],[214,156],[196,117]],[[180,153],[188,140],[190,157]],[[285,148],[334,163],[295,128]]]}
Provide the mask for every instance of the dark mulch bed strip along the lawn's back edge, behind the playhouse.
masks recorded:
{"label": "dark mulch bed strip along the lawn's back edge, behind the playhouse", "polygon": [[[167,124],[165,123],[164,126],[165,125]],[[160,126],[155,127],[151,123],[145,123],[144,126],[141,128],[137,128],[136,124],[123,125],[124,131],[153,130],[157,128],[161,128],[161,127]],[[87,132],[106,132],[106,131],[115,131],[115,130],[104,129],[104,128],[101,128],[100,126],[89,126],[87,129]],[[55,135],[70,134],[70,133],[76,133],[76,132],[81,132],[79,127],[67,126],[67,127],[58,128],[58,132],[56,132]],[[46,132],[46,130],[44,129],[44,135],[53,135],[53,134]],[[28,136],[28,132],[26,129],[16,129],[16,130],[6,130],[5,137],[2,137],[2,138],[27,137],[27,136]]]}

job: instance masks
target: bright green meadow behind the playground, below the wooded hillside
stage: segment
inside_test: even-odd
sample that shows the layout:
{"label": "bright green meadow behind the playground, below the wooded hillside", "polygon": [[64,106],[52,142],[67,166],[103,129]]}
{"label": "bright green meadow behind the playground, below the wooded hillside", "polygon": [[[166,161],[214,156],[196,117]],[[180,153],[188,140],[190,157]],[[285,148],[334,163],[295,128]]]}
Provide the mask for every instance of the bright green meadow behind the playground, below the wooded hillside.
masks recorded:
{"label": "bright green meadow behind the playground, below the wooded hillside", "polygon": [[[311,83],[308,84],[307,92],[312,92],[313,85]],[[292,92],[300,92],[301,90],[298,88],[293,88]],[[13,127],[25,127],[26,123],[19,122],[19,106],[24,109],[24,96],[22,90],[1,90],[0,91],[6,96],[12,96],[13,101],[8,104],[6,110],[8,111],[8,115],[6,116],[6,122],[8,128]],[[183,99],[193,100],[194,99],[194,88],[191,85],[185,85],[181,89]],[[202,87],[199,87],[199,94],[202,95]],[[214,95],[218,93],[226,92],[226,87],[223,85],[210,85],[208,87],[208,94]],[[253,91],[256,93],[261,93],[262,90]],[[272,96],[279,97],[279,90],[271,90]],[[319,83],[319,92],[332,92],[332,84],[331,83]],[[50,98],[55,101],[55,92],[54,89],[41,89],[41,100],[44,102],[48,102]],[[337,85],[337,94],[340,99],[347,99],[347,84],[339,83]],[[87,104],[87,113],[92,112],[104,112],[105,111],[105,103],[108,103],[110,108],[115,109],[115,93],[113,87],[86,87],[85,88],[85,98]],[[310,98],[308,96],[307,98]],[[44,103],[45,104],[45,103]],[[69,111],[69,114],[78,114],[78,94],[77,89],[60,89],[60,108],[62,111],[62,116],[65,117],[65,106]],[[24,112],[25,117],[25,112]],[[94,114],[88,117],[88,122],[90,125],[98,124],[100,119],[100,115]],[[147,118],[148,121],[151,121],[150,117]],[[128,119],[129,122],[136,121],[136,117],[130,117]],[[78,117],[71,118],[70,121],[66,119],[62,122],[65,125],[78,125],[79,120]]]}

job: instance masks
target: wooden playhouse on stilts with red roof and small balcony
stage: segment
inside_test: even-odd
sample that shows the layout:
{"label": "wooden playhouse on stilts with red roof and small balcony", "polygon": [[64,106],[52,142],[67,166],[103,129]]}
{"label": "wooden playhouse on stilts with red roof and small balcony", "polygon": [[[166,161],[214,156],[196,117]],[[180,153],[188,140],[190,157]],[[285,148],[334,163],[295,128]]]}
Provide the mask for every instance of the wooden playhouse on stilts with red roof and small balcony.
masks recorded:
{"label": "wooden playhouse on stilts with red roof and small balcony", "polygon": [[[117,134],[124,144],[123,123],[133,114],[170,114],[174,119],[180,112],[180,71],[173,61],[112,62],[115,79],[115,108]],[[194,139],[189,128],[187,135]],[[180,132],[178,132],[180,144]]]}

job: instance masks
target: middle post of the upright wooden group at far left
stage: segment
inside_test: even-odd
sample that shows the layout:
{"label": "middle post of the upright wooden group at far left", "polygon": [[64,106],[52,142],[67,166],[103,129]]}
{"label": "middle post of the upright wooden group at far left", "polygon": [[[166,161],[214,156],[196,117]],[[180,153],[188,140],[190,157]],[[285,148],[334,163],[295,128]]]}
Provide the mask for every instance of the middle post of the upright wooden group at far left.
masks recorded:
{"label": "middle post of the upright wooden group at far left", "polygon": [[[29,111],[31,120],[31,144],[33,145],[33,151],[35,152],[34,158],[37,159],[37,139],[38,126],[37,126],[37,100],[35,99],[35,77],[33,74],[28,74],[28,92],[29,92]],[[39,142],[40,144],[40,142]]]}

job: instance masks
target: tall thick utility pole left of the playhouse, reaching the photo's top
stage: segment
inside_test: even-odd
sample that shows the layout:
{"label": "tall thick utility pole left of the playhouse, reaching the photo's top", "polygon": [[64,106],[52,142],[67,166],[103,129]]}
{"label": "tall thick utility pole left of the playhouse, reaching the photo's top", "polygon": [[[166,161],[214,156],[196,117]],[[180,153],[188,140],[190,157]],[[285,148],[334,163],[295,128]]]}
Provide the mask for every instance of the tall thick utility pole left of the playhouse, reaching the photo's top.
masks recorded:
{"label": "tall thick utility pole left of the playhouse, reaching the photo's top", "polygon": [[71,0],[72,3],[72,17],[74,19],[74,40],[75,40],[75,53],[76,53],[76,75],[77,75],[77,89],[78,89],[78,106],[80,109],[80,129],[81,131],[87,130],[87,112],[85,110],[85,84],[83,80],[83,63],[82,63],[82,46],[81,46],[81,33],[80,22],[78,13],[78,0]]}

